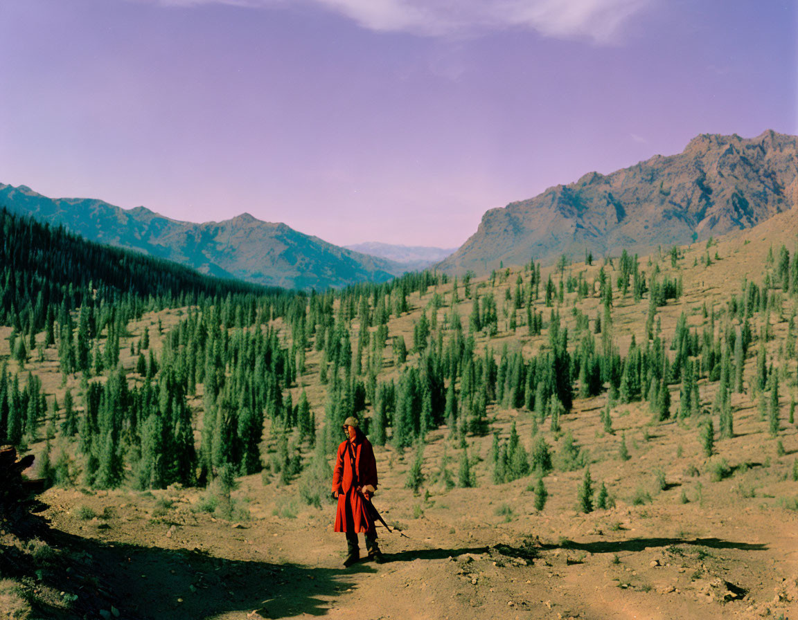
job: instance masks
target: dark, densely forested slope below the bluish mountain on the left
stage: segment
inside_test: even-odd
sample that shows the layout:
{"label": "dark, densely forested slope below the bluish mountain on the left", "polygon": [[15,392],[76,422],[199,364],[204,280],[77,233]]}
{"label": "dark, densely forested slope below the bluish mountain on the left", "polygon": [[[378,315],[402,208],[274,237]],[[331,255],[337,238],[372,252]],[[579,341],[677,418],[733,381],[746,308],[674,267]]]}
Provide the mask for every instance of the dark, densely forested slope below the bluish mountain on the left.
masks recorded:
{"label": "dark, densely forested slope below the bluish mountain on the left", "polygon": [[224,280],[171,261],[86,241],[61,226],[0,209],[0,324],[38,332],[85,304],[196,304],[228,295],[294,293]]}

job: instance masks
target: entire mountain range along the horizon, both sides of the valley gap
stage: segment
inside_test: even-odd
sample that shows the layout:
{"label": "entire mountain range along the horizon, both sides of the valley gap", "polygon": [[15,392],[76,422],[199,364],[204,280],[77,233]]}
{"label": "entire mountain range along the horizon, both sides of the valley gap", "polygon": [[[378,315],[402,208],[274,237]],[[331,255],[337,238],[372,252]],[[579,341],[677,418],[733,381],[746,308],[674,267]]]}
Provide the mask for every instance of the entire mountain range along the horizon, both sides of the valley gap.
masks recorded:
{"label": "entire mountain range along the horizon, both sides of the valley gap", "polygon": [[217,277],[305,290],[389,281],[431,265],[446,273],[485,273],[530,259],[553,263],[563,254],[642,253],[747,229],[796,203],[798,136],[775,131],[749,139],[698,135],[678,155],[654,155],[609,175],[591,172],[488,210],[453,253],[376,242],[342,248],[246,213],[223,222],[180,222],[143,206],[47,198],[0,183],[0,206],[62,224],[90,241]]}

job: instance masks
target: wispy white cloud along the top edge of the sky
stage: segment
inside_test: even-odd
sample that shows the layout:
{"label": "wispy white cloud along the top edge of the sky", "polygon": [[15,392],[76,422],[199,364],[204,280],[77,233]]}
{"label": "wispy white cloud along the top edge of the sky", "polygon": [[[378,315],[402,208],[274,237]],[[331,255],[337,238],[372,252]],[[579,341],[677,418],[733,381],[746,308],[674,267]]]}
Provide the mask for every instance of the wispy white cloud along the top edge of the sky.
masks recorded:
{"label": "wispy white cloud along the top edge of the sky", "polygon": [[[141,1],[141,0],[138,0]],[[289,0],[145,0],[164,6],[229,4],[267,8]],[[290,0],[322,6],[367,29],[452,36],[502,29],[600,45],[622,37],[624,26],[658,0]]]}

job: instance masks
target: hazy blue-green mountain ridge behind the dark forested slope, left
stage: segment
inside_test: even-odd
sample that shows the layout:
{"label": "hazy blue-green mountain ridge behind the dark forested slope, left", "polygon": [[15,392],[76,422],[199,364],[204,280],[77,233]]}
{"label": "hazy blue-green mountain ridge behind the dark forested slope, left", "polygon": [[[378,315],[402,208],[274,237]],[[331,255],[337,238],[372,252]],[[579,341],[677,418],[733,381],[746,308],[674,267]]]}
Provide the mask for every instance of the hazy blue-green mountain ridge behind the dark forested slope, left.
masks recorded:
{"label": "hazy blue-green mountain ridge behind the dark forested slope, left", "polygon": [[344,249],[282,223],[241,214],[223,222],[180,222],[138,206],[125,210],[90,198],[47,198],[27,186],[0,183],[0,206],[89,241],[137,249],[211,276],[279,286],[326,289],[384,282],[405,265]]}

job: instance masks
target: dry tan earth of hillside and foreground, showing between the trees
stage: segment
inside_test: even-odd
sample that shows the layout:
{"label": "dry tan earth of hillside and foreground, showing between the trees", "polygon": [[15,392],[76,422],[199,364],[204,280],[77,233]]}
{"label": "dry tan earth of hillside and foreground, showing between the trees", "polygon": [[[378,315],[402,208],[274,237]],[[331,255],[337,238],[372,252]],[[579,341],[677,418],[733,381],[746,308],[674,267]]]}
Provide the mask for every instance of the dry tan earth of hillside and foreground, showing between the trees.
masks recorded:
{"label": "dry tan earth of hillside and foreground, showing between the trees", "polygon": [[[725,324],[736,325],[729,300],[741,299],[746,281],[761,286],[772,278],[780,245],[795,255],[796,232],[798,212],[790,210],[733,236],[641,257],[647,274],[658,268],[662,277],[681,278],[679,299],[655,311],[654,329],[668,355],[682,313],[698,334],[710,324],[716,334]],[[544,283],[550,274],[557,283],[579,273],[591,283],[583,299],[565,292],[552,308],[542,297],[535,301],[546,323],[552,310],[559,312],[571,349],[600,315],[593,283],[602,268],[614,281],[617,257],[612,265],[543,269]],[[506,344],[528,358],[547,346],[545,326],[541,335],[530,335],[521,311],[516,328],[509,328],[504,306],[519,276],[528,279],[528,266],[472,281],[474,291],[492,292],[499,307],[498,333],[476,335],[478,352],[491,347],[498,359]],[[437,322],[444,324],[452,310],[452,284],[410,296],[410,312],[392,317],[389,334],[403,336],[412,348],[414,325],[421,312],[429,316],[436,294],[444,301]],[[779,288],[772,292],[768,311],[750,319],[757,340],[745,358],[744,389],[730,396],[731,438],[718,434],[717,379],[698,381],[701,413],[687,417],[677,414],[678,384],[666,387],[672,413],[664,421],[654,418],[646,401],[614,400],[607,424],[606,392],[575,398],[559,430],[523,407],[491,405],[490,432],[483,437],[460,436],[444,425],[429,432],[423,449],[396,449],[390,442],[376,448],[381,484],[374,501],[398,532],[380,532],[387,563],[345,569],[345,543],[332,532],[334,513],[326,499],[329,457],[320,470],[310,447],[301,445],[305,468],[286,484],[274,465],[278,433],[267,422],[262,457],[269,466],[232,488],[217,481],[207,489],[49,489],[41,499],[49,504],[44,516],[51,531],[33,537],[9,528],[2,533],[0,568],[8,579],[0,581],[0,604],[10,618],[798,618],[798,429],[791,404],[796,353],[788,347],[795,339],[789,324],[798,298]],[[464,332],[471,308],[460,283],[456,309]],[[120,341],[122,365],[136,363],[131,343],[143,330],[157,352],[159,321],[168,334],[185,312],[150,313],[130,324]],[[631,294],[615,292],[610,329],[622,355],[632,336],[646,341],[648,314],[645,297],[635,302]],[[579,324],[584,317],[587,330]],[[351,331],[356,343],[357,320]],[[9,332],[0,328],[0,359],[10,359]],[[757,347],[768,332],[761,340],[780,380],[775,435],[763,411],[768,393],[755,389]],[[283,330],[286,343],[290,337]],[[389,346],[384,360],[380,379],[397,378]],[[291,388],[293,402],[306,390],[318,426],[329,389],[319,380],[321,362],[311,347],[306,371]],[[16,370],[17,363],[9,363]],[[81,393],[80,376],[62,382],[53,347],[45,350],[44,361],[28,363],[27,371],[60,402],[68,388]],[[199,441],[201,390],[191,406]],[[367,415],[373,415],[370,407]],[[715,424],[709,456],[701,440],[707,419]],[[541,509],[535,508],[537,475],[494,482],[494,434],[504,443],[513,425],[527,454],[539,438],[551,448],[554,463],[541,478],[547,491]],[[570,452],[569,437],[575,441]],[[80,467],[68,441],[56,437],[52,446],[53,460],[61,451]],[[41,455],[44,447],[39,441],[30,450]],[[474,477],[471,488],[458,481],[464,453]],[[423,481],[414,492],[407,483],[417,458]],[[590,512],[579,500],[587,470],[593,482]],[[602,485],[607,496],[599,508]]]}

